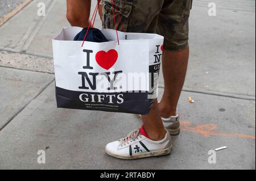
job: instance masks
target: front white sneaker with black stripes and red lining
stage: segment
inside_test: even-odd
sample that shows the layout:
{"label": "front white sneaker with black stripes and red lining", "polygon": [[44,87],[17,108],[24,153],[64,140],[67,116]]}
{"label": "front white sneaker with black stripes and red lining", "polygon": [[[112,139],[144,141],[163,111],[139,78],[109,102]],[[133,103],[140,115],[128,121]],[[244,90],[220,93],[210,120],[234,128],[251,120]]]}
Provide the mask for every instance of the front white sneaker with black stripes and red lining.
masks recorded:
{"label": "front white sneaker with black stripes and red lining", "polygon": [[163,140],[150,140],[142,126],[127,137],[110,142],[105,150],[110,156],[121,159],[156,157],[171,153],[172,140],[168,132]]}

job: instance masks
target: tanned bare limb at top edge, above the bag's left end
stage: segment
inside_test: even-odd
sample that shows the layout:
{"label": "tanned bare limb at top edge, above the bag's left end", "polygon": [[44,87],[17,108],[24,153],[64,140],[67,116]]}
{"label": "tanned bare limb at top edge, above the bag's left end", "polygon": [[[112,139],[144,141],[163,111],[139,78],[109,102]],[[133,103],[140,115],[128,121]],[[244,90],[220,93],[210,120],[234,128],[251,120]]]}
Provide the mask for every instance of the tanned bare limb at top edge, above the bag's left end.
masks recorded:
{"label": "tanned bare limb at top edge, above the bag's left end", "polygon": [[67,19],[71,26],[88,27],[91,0],[67,0]]}

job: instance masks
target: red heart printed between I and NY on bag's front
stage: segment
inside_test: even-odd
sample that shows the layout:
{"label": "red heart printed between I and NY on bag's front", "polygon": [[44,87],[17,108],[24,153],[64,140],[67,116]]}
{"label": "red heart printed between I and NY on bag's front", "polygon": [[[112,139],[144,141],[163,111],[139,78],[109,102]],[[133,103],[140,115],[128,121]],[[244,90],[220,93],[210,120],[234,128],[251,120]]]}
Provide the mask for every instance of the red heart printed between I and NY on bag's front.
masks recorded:
{"label": "red heart printed between I and NY on bag's front", "polygon": [[108,52],[100,51],[96,53],[96,62],[102,68],[109,70],[117,62],[118,53],[116,50],[111,49]]}

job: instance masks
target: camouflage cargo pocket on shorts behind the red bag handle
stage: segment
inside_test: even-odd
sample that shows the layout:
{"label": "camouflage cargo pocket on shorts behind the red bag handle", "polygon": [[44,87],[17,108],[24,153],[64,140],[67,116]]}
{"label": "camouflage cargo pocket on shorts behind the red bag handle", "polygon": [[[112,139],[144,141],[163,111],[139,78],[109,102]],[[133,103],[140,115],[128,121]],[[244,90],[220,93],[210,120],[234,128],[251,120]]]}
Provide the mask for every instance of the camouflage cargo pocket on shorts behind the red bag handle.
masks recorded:
{"label": "camouflage cargo pocket on shorts behind the red bag handle", "polygon": [[[126,31],[129,22],[129,16],[131,14],[131,10],[133,9],[133,2],[132,0],[113,0],[113,6],[114,1],[116,1],[117,6],[117,9],[115,9],[115,20],[117,22],[117,29],[118,31]],[[115,29],[111,0],[103,0],[102,5],[102,27]],[[119,12],[123,28],[125,30],[123,30],[122,28],[117,11]]]}

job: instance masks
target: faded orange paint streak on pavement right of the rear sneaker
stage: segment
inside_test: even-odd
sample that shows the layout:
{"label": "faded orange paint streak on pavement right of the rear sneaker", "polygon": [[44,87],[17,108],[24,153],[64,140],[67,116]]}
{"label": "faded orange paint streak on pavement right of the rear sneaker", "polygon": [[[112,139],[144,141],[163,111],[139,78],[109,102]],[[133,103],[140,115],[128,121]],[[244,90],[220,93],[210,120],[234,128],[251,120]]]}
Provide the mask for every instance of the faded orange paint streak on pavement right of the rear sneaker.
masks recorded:
{"label": "faded orange paint streak on pavement right of the rear sneaker", "polygon": [[203,136],[210,136],[210,135],[214,135],[214,136],[232,136],[232,137],[249,138],[249,139],[254,139],[255,140],[255,136],[251,136],[251,135],[248,135],[248,134],[237,134],[237,133],[228,133],[228,132],[215,131],[216,128],[217,128],[217,125],[212,124],[212,123],[198,124],[198,125],[196,125],[196,127],[191,126],[191,121],[181,121],[180,124],[181,124],[180,125],[181,129],[183,129],[185,131],[199,133],[199,134],[202,134]]}

